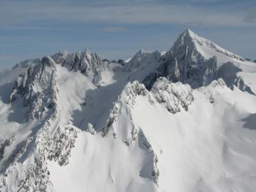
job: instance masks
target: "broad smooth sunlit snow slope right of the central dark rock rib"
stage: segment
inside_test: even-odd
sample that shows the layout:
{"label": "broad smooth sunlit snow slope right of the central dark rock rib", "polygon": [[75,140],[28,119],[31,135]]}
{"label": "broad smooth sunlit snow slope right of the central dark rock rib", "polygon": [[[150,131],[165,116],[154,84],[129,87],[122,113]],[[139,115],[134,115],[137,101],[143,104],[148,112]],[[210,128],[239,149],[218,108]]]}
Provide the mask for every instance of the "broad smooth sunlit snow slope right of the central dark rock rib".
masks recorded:
{"label": "broad smooth sunlit snow slope right of the central dark rock rib", "polygon": [[[138,96],[129,109],[134,129],[143,131],[157,156],[158,190],[253,191],[255,97],[230,90],[221,79],[193,90],[189,97],[188,85],[166,83],[166,79],[159,79],[153,86],[158,91],[148,93],[154,102]],[[162,87],[179,87],[178,93],[170,91],[165,97],[184,98],[188,108],[182,107],[182,100],[169,99],[172,106],[180,106],[180,111],[168,110],[158,99]],[[116,138],[120,136],[118,128],[122,129],[115,128]]]}

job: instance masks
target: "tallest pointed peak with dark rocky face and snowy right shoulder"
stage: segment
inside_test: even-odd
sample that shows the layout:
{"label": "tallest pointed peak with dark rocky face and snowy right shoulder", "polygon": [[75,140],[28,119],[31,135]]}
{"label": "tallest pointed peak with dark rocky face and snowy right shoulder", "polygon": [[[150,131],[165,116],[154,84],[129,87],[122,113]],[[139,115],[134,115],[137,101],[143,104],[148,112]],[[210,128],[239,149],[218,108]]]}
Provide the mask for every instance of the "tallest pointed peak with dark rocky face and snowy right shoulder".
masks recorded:
{"label": "tallest pointed peak with dark rocky face and snowy right shoulder", "polygon": [[[222,78],[233,88],[239,82],[237,72],[242,71],[239,68],[241,64],[235,63],[243,61],[245,60],[241,56],[226,51],[187,29],[180,34],[172,49],[161,56],[159,67],[143,80],[143,84],[150,90],[158,77],[166,77],[174,83],[188,83],[192,88],[198,88]],[[238,87],[242,91],[252,93],[241,84]]]}

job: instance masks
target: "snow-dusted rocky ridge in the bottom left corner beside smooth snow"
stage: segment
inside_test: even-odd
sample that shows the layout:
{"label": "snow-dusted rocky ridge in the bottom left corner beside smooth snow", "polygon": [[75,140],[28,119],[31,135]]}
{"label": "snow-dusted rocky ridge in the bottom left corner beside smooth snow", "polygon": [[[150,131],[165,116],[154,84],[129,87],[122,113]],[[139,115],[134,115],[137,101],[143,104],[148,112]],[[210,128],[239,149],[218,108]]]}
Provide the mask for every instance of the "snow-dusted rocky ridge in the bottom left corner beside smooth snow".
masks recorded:
{"label": "snow-dusted rocky ridge in the bottom left corner beside smooth snow", "polygon": [[53,136],[49,134],[47,125],[44,126],[36,134],[37,146],[33,161],[29,164],[13,163],[6,170],[6,174],[0,177],[0,189],[10,188],[10,183],[6,180],[19,176],[16,180],[17,186],[13,186],[15,191],[51,191],[47,161],[57,161],[60,166],[67,165],[78,133],[79,129],[70,121],[67,125],[58,127]]}

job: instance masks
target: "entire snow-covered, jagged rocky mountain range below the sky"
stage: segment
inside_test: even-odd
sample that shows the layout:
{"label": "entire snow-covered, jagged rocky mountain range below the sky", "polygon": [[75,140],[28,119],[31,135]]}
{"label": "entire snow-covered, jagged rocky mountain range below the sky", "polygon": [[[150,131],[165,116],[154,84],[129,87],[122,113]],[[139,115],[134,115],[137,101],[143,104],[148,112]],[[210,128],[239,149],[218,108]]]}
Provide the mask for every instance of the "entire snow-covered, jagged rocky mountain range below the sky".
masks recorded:
{"label": "entire snow-covered, jagged rocky mountain range below the sky", "polygon": [[0,75],[0,191],[254,191],[256,63],[187,29],[120,62]]}

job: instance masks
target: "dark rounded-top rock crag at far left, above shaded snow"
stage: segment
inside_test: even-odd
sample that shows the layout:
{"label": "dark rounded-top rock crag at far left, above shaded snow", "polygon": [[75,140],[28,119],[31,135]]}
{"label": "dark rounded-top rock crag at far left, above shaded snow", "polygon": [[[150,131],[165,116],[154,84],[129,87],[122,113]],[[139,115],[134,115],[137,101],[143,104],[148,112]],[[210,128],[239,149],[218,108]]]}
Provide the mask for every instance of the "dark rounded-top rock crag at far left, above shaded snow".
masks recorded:
{"label": "dark rounded-top rock crag at far left, above shaded snow", "polygon": [[20,74],[9,97],[12,103],[23,98],[24,106],[28,106],[27,120],[42,117],[50,109],[56,108],[56,68],[50,57],[42,58],[40,64]]}

